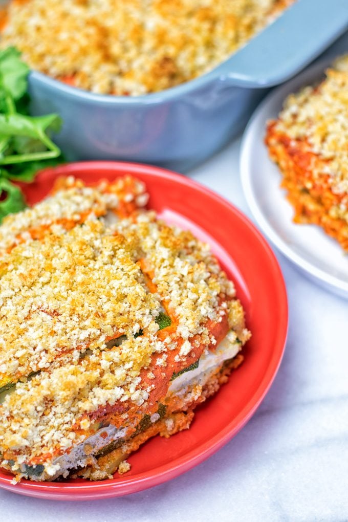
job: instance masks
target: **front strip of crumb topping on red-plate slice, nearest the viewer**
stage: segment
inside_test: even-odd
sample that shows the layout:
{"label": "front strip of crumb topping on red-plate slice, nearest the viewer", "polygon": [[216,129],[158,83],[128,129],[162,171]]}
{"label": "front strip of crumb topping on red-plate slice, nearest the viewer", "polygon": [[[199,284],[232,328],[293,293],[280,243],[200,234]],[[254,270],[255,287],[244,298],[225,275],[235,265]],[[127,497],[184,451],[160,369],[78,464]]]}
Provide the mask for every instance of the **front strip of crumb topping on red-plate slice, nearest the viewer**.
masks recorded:
{"label": "front strip of crumb topping on red-plate slice, nearest the viewer", "polygon": [[19,383],[1,406],[0,448],[32,459],[64,453],[91,434],[89,413],[116,401],[141,405],[140,369],[149,364],[153,337],[125,341],[122,350],[96,352],[78,363],[41,372]]}

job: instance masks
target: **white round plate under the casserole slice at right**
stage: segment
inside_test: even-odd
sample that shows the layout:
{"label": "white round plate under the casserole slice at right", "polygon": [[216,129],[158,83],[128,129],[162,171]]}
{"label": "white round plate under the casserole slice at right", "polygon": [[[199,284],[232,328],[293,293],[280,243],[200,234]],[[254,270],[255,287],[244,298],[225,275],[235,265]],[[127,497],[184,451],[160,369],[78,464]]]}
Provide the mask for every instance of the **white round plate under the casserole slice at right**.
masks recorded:
{"label": "white round plate under the casserole slice at right", "polygon": [[263,143],[266,122],[278,116],[284,99],[323,77],[326,60],[273,90],[258,106],[245,130],[241,176],[245,197],[260,229],[307,276],[348,298],[348,257],[341,246],[315,225],[295,224],[294,211],[280,188],[280,171]]}

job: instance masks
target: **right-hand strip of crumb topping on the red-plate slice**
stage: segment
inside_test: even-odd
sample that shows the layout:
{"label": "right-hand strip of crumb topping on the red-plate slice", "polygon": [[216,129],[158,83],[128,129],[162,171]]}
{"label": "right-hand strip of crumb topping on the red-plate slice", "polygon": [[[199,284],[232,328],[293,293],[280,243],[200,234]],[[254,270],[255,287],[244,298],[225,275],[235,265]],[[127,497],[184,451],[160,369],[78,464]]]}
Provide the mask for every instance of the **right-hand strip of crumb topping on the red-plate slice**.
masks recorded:
{"label": "right-hand strip of crumb topping on the red-plate slice", "polygon": [[[185,340],[201,334],[210,344],[202,321],[221,321],[228,310],[225,302],[220,303],[220,296],[233,298],[235,289],[209,246],[198,241],[191,232],[157,221],[154,212],[139,215],[134,223],[120,221],[114,229],[120,233],[126,230],[136,233],[145,254],[143,269],[170,315],[177,318],[177,334]],[[186,353],[190,350],[187,345],[182,349]]]}

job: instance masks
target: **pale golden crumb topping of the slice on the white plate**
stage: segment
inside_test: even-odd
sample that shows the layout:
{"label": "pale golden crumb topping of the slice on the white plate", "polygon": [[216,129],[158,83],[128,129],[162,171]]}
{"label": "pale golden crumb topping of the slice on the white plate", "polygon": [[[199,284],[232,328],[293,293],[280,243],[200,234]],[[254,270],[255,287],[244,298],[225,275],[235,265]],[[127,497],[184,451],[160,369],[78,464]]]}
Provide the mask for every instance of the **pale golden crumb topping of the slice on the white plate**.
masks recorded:
{"label": "pale golden crumb topping of the slice on the white plate", "polygon": [[315,176],[329,175],[333,192],[348,193],[348,55],[335,60],[320,85],[308,86],[285,101],[275,132],[306,140]]}

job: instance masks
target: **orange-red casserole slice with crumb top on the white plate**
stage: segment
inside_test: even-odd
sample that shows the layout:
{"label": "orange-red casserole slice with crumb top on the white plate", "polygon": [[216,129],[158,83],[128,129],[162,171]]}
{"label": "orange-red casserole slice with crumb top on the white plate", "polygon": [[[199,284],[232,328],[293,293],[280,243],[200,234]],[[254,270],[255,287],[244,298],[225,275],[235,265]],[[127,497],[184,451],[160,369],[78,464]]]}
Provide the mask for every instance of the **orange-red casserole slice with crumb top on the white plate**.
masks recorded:
{"label": "orange-red casserole slice with crumb top on the white plate", "polygon": [[266,144],[294,221],[321,226],[348,251],[348,55],[319,84],[291,94]]}

